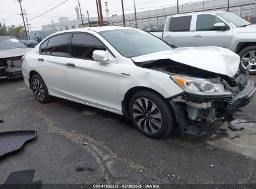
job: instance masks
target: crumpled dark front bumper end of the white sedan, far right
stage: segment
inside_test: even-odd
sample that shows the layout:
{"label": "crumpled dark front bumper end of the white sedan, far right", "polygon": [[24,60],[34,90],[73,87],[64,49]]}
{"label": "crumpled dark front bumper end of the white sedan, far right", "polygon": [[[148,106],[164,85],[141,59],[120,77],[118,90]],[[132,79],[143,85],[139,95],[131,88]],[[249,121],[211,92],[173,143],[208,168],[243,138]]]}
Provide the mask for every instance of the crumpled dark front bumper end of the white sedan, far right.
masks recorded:
{"label": "crumpled dark front bumper end of the white sedan, far right", "polygon": [[233,110],[246,106],[254,98],[255,92],[256,86],[254,81],[247,81],[247,85],[244,90],[240,91],[240,93],[235,95],[234,98],[227,101],[227,109]]}

